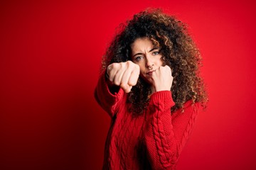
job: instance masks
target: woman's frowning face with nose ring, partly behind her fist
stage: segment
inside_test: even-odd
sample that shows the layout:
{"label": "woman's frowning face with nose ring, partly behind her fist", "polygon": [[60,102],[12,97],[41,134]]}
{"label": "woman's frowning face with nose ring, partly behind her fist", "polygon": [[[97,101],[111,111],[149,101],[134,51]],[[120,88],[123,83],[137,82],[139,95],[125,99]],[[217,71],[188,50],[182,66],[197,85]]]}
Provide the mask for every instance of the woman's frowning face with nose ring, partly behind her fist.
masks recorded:
{"label": "woman's frowning face with nose ring, partly behind her fist", "polygon": [[132,62],[139,65],[140,76],[153,84],[152,72],[163,65],[159,47],[154,47],[149,38],[137,38],[131,45]]}

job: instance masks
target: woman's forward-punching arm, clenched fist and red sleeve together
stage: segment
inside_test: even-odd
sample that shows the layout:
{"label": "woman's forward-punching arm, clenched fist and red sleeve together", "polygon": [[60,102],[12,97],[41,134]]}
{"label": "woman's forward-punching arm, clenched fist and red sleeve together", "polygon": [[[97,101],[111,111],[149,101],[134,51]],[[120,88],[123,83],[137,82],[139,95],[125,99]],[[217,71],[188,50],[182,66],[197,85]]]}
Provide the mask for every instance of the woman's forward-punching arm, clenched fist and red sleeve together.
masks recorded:
{"label": "woman's forward-punching arm, clenched fist and red sleeve together", "polygon": [[96,101],[113,117],[122,101],[126,100],[123,98],[124,92],[129,93],[132,86],[137,84],[138,78],[137,64],[131,61],[110,64],[98,81],[95,89]]}

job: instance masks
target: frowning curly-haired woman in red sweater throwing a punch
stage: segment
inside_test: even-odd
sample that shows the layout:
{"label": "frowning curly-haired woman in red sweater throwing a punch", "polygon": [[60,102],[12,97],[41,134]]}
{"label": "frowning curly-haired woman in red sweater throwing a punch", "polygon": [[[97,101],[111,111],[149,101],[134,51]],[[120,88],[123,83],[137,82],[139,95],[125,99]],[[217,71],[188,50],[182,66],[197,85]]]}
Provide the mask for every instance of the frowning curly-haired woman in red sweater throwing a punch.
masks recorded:
{"label": "frowning curly-haired woman in red sweater throwing a punch", "polygon": [[127,21],[103,57],[95,89],[112,119],[103,169],[175,169],[207,101],[199,64],[176,18],[153,9]]}

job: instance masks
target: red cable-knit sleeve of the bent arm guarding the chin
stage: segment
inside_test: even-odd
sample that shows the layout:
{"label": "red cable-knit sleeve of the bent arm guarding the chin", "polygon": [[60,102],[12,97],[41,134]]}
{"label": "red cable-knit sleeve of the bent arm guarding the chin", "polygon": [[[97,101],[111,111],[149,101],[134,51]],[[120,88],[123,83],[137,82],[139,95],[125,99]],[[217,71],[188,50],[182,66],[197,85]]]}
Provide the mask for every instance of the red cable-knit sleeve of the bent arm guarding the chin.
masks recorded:
{"label": "red cable-knit sleeve of the bent arm guarding the chin", "polygon": [[197,103],[192,105],[192,101],[188,101],[183,113],[180,109],[171,115],[174,105],[171,91],[158,91],[151,96],[145,142],[152,169],[175,169],[198,115]]}

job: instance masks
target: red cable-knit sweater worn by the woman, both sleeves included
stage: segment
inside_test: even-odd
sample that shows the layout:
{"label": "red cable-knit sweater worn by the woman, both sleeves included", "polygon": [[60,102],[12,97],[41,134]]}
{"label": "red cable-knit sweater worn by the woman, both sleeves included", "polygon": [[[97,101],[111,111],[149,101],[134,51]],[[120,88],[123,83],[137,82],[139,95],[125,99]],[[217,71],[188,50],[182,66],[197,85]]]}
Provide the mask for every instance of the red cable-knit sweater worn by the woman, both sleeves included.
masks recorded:
{"label": "red cable-knit sweater worn by the woman, both sleeves included", "polygon": [[144,113],[134,117],[127,109],[127,94],[122,89],[112,94],[105,74],[100,76],[95,98],[112,119],[103,169],[176,169],[198,115],[198,103],[187,101],[183,113],[171,113],[175,105],[171,91],[158,91],[151,95]]}

